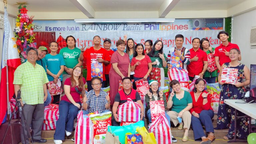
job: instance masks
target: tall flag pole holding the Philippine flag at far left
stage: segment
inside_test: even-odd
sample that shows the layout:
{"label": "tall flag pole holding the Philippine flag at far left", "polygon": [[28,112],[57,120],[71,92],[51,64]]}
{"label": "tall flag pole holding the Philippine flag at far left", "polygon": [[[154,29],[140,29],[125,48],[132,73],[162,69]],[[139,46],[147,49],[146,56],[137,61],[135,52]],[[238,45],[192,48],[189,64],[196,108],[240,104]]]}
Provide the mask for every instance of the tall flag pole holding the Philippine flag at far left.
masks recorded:
{"label": "tall flag pole holding the Philippine flag at far left", "polygon": [[[3,0],[3,3],[4,3],[4,19],[5,21],[8,20],[8,13],[6,11],[6,6],[7,6],[7,0]],[[6,14],[7,13],[7,14]],[[7,30],[7,23],[4,23],[4,28],[5,30]],[[8,65],[7,65],[7,56],[8,56],[8,39],[9,39],[9,32],[8,33],[5,33],[5,36],[6,38],[4,39],[4,44],[5,44],[5,64],[6,64],[6,84],[7,84],[7,121],[9,122],[10,121],[10,111],[9,111],[9,80],[8,80]]]}

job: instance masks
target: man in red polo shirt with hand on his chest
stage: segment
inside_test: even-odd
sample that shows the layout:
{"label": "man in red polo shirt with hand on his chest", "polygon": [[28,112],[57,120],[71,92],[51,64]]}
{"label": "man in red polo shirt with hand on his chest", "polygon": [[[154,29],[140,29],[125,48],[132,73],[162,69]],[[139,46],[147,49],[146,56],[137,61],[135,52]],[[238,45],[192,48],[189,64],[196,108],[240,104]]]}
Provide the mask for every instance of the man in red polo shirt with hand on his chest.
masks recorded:
{"label": "man in red polo shirt with hand on his chest", "polygon": [[200,39],[194,38],[192,40],[192,46],[190,51],[191,62],[187,65],[189,80],[193,81],[196,75],[203,78],[205,71],[208,67],[207,54],[199,48]]}

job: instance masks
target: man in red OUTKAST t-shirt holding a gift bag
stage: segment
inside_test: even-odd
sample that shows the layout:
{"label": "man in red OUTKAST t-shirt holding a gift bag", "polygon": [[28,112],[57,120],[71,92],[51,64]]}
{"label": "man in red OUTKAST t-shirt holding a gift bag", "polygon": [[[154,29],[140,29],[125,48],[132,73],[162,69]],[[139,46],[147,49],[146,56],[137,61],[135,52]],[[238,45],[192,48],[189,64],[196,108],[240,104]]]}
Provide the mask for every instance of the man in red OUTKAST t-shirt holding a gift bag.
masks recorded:
{"label": "man in red OUTKAST t-shirt holding a gift bag", "polygon": [[110,63],[110,57],[108,56],[108,51],[100,47],[100,36],[93,37],[94,46],[86,49],[85,51],[81,49],[81,54],[79,57],[80,61],[85,60],[87,66],[87,88],[88,92],[92,90],[91,79],[93,77],[100,77],[103,81],[102,88],[104,88],[105,78],[105,65]]}

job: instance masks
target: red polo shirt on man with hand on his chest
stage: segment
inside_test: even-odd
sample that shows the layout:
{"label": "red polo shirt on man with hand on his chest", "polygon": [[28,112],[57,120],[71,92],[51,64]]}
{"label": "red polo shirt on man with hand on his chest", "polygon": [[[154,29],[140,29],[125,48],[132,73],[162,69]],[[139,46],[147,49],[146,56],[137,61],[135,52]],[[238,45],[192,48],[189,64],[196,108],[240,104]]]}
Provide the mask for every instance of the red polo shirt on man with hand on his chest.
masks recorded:
{"label": "red polo shirt on man with hand on his chest", "polygon": [[197,51],[191,48],[189,51],[191,59],[194,58],[196,55],[198,57],[197,61],[192,61],[189,65],[187,65],[188,76],[194,77],[195,75],[199,75],[203,71],[204,61],[208,61],[208,58],[206,52],[201,50],[200,48],[198,48]]}

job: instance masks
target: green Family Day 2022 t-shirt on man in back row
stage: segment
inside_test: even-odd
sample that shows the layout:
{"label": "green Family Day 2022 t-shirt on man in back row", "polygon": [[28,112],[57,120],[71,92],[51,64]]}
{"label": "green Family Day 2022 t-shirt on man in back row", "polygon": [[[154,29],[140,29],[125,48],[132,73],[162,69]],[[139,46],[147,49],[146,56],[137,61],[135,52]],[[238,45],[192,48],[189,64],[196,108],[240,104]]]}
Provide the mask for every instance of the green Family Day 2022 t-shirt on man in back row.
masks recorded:
{"label": "green Family Day 2022 t-shirt on man in back row", "polygon": [[[59,54],[63,56],[67,68],[74,68],[78,64],[80,53],[81,50],[77,47],[74,49],[63,47]],[[67,72],[63,71],[63,74],[67,74]]]}

